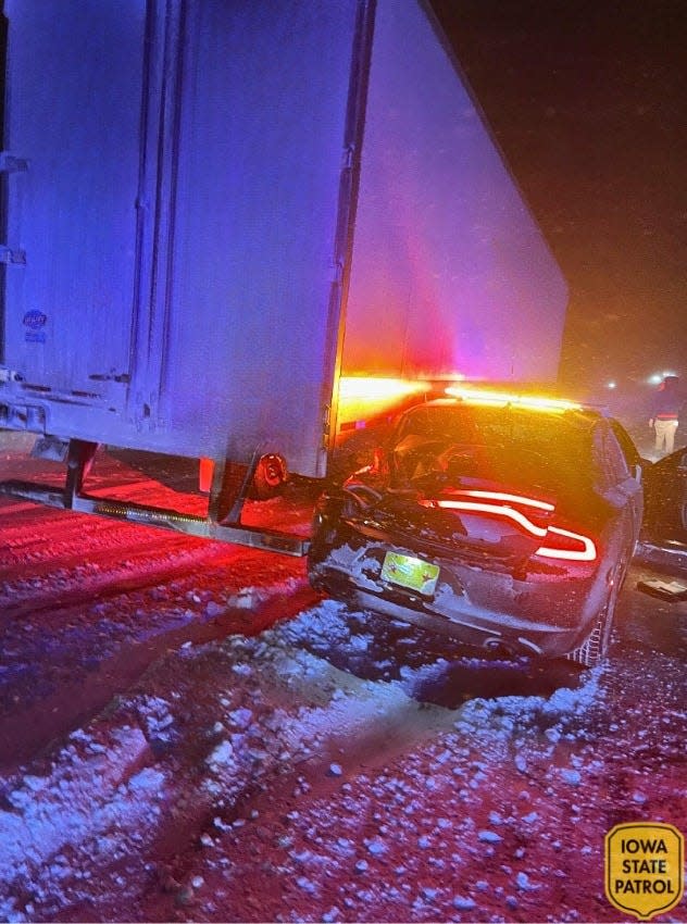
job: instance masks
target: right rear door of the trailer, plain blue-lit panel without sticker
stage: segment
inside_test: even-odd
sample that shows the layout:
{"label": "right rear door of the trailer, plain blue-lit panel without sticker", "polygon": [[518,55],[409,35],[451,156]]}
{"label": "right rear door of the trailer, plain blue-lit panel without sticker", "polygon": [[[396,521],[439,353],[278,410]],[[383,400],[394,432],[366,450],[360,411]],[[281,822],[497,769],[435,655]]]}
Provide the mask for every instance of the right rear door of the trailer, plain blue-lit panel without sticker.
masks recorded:
{"label": "right rear door of the trailer, plain blue-lit panel without sticker", "polygon": [[192,437],[208,455],[279,451],[315,475],[369,4],[267,5],[187,8],[168,297],[153,309],[164,362],[151,390],[182,449]]}

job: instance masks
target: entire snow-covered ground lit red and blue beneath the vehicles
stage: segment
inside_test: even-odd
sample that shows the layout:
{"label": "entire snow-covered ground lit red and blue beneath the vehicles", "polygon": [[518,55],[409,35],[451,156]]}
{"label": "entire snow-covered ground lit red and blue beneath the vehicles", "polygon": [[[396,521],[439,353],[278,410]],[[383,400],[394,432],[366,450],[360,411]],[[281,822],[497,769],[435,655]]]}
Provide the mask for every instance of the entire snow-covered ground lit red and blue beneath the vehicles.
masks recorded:
{"label": "entire snow-covered ground lit red and blue beneath the vehicles", "polygon": [[580,673],[348,612],[298,560],[0,515],[0,920],[616,921],[604,834],[687,834],[687,604],[641,566]]}

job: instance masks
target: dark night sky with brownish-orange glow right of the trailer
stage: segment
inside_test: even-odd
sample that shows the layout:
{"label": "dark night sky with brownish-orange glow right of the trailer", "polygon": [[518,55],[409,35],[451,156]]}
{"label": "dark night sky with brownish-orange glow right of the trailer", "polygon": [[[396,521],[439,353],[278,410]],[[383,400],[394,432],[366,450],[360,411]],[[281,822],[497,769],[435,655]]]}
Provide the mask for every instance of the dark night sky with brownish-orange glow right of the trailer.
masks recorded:
{"label": "dark night sky with brownish-orange glow right of the trailer", "polygon": [[561,382],[687,378],[685,0],[434,0],[569,282]]}

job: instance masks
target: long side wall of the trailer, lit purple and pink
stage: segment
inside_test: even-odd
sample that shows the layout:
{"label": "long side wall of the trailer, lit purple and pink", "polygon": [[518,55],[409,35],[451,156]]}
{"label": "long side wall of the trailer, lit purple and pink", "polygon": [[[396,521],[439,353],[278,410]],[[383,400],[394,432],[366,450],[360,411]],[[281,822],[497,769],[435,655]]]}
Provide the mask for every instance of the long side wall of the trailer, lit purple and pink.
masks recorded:
{"label": "long side wall of the trailer, lit purple and pink", "polygon": [[345,372],[555,379],[566,303],[432,17],[379,0]]}

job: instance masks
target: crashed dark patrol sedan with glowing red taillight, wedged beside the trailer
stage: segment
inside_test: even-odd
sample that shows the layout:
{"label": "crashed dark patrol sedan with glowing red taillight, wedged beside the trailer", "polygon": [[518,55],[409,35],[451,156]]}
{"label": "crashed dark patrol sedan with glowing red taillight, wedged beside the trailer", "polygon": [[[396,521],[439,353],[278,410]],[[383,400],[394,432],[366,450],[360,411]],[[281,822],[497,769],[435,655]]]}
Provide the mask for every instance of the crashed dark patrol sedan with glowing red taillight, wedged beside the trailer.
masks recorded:
{"label": "crashed dark patrol sedan with glowing red taillight, wedged beside the trailer", "polygon": [[570,402],[417,405],[321,497],[310,580],[470,645],[594,665],[641,527],[637,460],[615,421]]}

